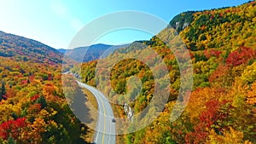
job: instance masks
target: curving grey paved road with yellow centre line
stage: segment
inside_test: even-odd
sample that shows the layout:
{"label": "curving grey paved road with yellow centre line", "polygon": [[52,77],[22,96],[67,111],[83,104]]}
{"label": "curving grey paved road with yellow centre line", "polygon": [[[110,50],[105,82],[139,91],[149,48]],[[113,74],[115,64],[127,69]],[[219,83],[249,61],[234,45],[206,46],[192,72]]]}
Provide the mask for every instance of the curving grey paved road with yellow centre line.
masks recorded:
{"label": "curving grey paved road with yellow centre line", "polygon": [[77,81],[79,85],[95,95],[98,103],[98,118],[94,142],[96,144],[115,144],[115,123],[112,122],[113,110],[108,99],[97,89]]}

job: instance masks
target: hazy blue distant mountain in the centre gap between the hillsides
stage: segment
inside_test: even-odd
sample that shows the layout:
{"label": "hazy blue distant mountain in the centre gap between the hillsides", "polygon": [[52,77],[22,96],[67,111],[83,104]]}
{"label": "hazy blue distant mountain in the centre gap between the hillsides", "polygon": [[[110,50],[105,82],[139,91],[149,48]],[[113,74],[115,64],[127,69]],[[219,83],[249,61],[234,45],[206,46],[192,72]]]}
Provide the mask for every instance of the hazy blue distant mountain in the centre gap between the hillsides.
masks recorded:
{"label": "hazy blue distant mountain in the centre gap between the hillsides", "polygon": [[[62,54],[67,55],[69,58],[78,62],[87,62],[91,60],[97,60],[101,56],[106,57],[115,49],[124,48],[130,44],[124,45],[108,45],[108,44],[95,44],[87,47],[79,47],[76,49],[58,49]],[[87,50],[87,51],[86,51]],[[106,51],[108,50],[108,51]]]}

